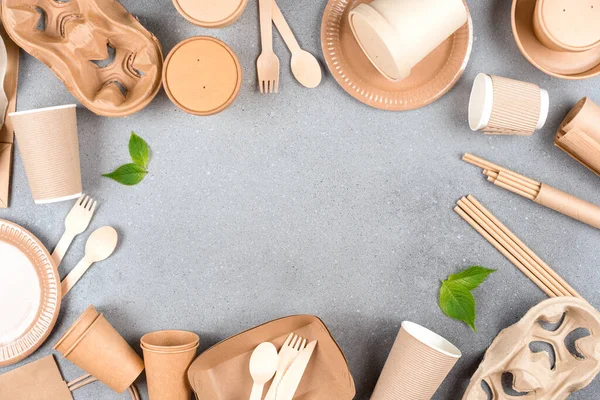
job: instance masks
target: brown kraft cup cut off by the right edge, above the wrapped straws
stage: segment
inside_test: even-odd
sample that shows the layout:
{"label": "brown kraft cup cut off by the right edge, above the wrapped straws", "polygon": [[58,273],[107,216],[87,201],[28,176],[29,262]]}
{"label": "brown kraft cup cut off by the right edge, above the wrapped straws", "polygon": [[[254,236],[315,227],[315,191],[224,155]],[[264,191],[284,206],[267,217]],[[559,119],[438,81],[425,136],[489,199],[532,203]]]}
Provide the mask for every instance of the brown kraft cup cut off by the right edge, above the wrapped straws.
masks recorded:
{"label": "brown kraft cup cut off by the right edge, above the wrapped straws", "polygon": [[554,143],[600,175],[600,107],[584,97],[560,124]]}

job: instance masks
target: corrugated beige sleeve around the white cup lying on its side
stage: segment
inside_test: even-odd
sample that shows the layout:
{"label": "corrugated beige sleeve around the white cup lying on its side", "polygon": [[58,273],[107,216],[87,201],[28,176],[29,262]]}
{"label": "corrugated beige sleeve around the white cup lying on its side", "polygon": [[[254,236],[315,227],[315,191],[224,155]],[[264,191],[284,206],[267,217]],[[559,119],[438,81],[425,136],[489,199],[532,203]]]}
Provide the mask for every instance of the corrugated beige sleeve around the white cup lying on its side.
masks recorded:
{"label": "corrugated beige sleeve around the white cup lying on its side", "polygon": [[542,109],[540,87],[532,83],[492,76],[494,103],[488,126],[490,134],[530,136],[535,132]]}

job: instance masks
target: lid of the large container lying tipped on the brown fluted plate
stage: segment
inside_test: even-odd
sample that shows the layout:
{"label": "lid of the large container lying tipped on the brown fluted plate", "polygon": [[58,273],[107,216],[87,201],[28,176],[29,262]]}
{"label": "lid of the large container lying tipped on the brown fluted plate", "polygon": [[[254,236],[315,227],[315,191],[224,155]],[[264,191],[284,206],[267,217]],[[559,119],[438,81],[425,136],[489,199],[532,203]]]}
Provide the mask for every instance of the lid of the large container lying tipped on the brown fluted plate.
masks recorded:
{"label": "lid of the large container lying tipped on the brown fluted plate", "polygon": [[398,68],[393,51],[396,33],[377,10],[368,4],[359,4],[348,18],[360,48],[383,76],[398,81],[410,75],[410,69]]}

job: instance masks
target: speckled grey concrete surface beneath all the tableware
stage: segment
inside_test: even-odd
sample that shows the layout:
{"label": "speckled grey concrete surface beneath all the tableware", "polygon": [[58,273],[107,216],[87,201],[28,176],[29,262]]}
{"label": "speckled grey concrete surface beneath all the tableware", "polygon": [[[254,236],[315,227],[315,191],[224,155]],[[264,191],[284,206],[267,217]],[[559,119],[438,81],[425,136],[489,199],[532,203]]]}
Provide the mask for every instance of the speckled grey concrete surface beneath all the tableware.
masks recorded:
{"label": "speckled grey concrete surface beneath all the tableware", "polygon": [[[600,304],[598,231],[487,183],[479,169],[460,161],[463,152],[473,152],[600,204],[599,178],[553,146],[558,123],[577,100],[589,95],[600,101],[600,80],[563,81],[531,66],[512,38],[509,0],[469,1],[475,44],[465,75],[436,103],[403,113],[357,102],[329,73],[319,88],[302,88],[279,37],[280,94],[260,95],[256,1],[236,24],[218,30],[189,24],[169,0],[123,4],[156,34],[165,54],[192,35],[227,42],[242,62],[241,94],[209,118],[178,110],[164,92],[122,119],[78,108],[84,188],[101,206],[74,242],[61,275],[83,256],[94,228],[115,226],[121,242],[68,295],[53,334],[26,362],[49,354],[92,303],[136,346],[146,332],[179,328],[200,334],[206,349],[265,321],[310,313],[331,329],[350,363],[356,399],[364,400],[400,323],[411,320],[463,351],[435,396],[459,399],[498,332],[545,298],[452,211],[468,193]],[[325,4],[280,0],[300,43],[320,59]],[[530,138],[472,133],[467,102],[482,71],[547,89],[546,127]],[[48,68],[22,56],[20,110],[73,101]],[[124,187],[101,174],[128,162],[132,130],[152,148],[150,174],[140,185]],[[72,203],[35,206],[18,152],[13,178],[11,208],[0,218],[25,226],[53,248]],[[437,305],[440,279],[474,264],[498,268],[476,292],[478,333],[445,317]],[[81,374],[69,362],[59,363],[66,379]],[[596,380],[571,398],[599,396]],[[76,395],[117,397],[100,384]]]}

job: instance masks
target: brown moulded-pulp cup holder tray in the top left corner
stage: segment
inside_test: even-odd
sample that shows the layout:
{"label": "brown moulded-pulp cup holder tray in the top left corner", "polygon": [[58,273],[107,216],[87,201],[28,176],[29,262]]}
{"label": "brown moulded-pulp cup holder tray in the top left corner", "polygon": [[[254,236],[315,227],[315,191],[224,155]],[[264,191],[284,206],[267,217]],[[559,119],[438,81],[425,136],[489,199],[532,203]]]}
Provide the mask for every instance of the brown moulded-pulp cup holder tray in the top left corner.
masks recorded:
{"label": "brown moulded-pulp cup holder tray in the top left corner", "polygon": [[96,114],[133,114],[160,89],[160,43],[114,0],[3,0],[2,22]]}

